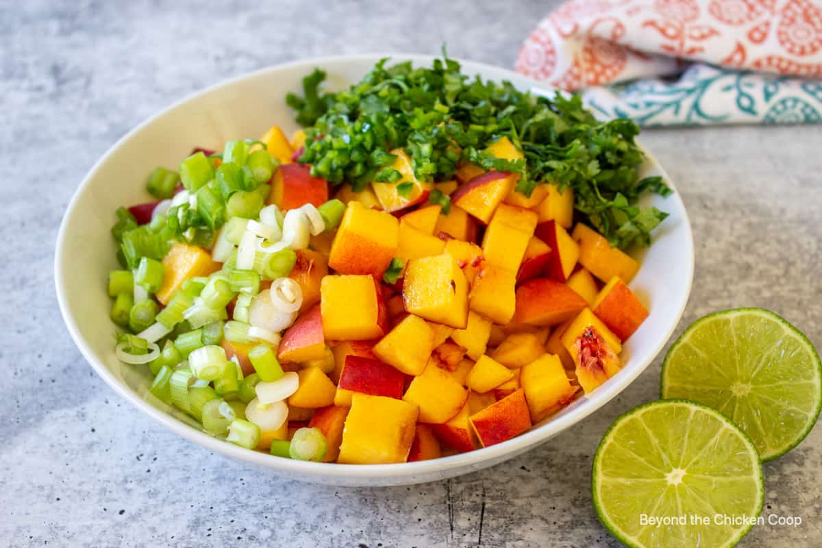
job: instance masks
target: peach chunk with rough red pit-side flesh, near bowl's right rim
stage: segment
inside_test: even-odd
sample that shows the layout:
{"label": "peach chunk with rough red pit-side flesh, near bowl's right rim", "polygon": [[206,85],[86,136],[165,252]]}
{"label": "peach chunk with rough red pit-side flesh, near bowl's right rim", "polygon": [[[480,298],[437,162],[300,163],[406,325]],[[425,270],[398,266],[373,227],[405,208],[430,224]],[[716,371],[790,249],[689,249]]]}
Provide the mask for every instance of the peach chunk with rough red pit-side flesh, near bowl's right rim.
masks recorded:
{"label": "peach chunk with rough red pit-side flesh, near bowl's right rim", "polygon": [[588,394],[620,371],[622,345],[589,308],[570,323],[562,344],[575,363],[576,379]]}

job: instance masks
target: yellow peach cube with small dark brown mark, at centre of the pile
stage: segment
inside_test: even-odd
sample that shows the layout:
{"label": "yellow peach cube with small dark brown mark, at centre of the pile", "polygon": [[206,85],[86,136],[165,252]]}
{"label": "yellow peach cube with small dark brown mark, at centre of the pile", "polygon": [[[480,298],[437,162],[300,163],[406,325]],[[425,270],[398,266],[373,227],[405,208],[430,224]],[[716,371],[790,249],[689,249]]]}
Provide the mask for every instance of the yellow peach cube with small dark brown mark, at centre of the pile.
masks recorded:
{"label": "yellow peach cube with small dark brown mark, at centre of the pile", "polygon": [[464,329],[468,323],[468,280],[448,254],[409,260],[403,302],[410,314]]}

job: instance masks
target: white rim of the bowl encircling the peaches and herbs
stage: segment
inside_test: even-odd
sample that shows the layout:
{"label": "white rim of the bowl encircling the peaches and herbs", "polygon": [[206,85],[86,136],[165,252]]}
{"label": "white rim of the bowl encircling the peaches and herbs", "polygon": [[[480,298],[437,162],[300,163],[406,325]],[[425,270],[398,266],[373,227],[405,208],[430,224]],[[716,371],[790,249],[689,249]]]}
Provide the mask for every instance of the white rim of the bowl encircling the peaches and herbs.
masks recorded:
{"label": "white rim of the bowl encircling the peaches and herbs", "polygon": [[[529,431],[526,431],[520,435],[515,436],[514,438],[511,438],[510,440],[506,440],[504,442],[494,444],[489,447],[474,449],[473,451],[469,451],[467,453],[455,454],[447,457],[423,460],[413,463],[314,463],[308,461],[294,460],[290,458],[276,458],[273,455],[261,453],[260,451],[243,449],[242,447],[239,447],[237,445],[227,443],[225,440],[215,438],[214,436],[211,436],[205,433],[204,431],[196,430],[192,426],[189,426],[186,423],[179,421],[176,417],[173,417],[173,415],[169,414],[168,412],[164,412],[159,408],[155,408],[155,406],[145,402],[138,394],[129,389],[127,385],[125,385],[125,383],[122,383],[120,380],[118,380],[118,378],[115,375],[113,375],[113,373],[109,371],[109,369],[104,365],[103,361],[95,355],[95,352],[92,351],[90,345],[86,343],[85,339],[81,336],[80,329],[78,328],[74,316],[72,315],[72,312],[69,310],[67,304],[67,290],[65,288],[66,280],[64,279],[62,268],[63,263],[67,260],[66,239],[68,219],[71,219],[75,214],[75,209],[78,205],[81,195],[85,191],[85,188],[89,186],[90,182],[95,178],[96,174],[99,172],[100,168],[102,168],[106,160],[109,159],[109,157],[113,154],[116,154],[127,143],[127,141],[132,138],[133,135],[141,131],[144,127],[149,126],[151,123],[155,122],[155,120],[159,117],[163,117],[166,113],[169,113],[175,108],[182,106],[182,104],[187,104],[188,102],[194,99],[198,99],[202,95],[210,94],[224,87],[229,87],[239,81],[251,79],[253,77],[260,76],[261,74],[265,74],[266,72],[270,71],[281,71],[284,69],[293,69],[298,67],[305,67],[307,71],[311,71],[313,67],[332,67],[335,64],[351,62],[376,62],[381,58],[392,58],[396,59],[397,61],[412,61],[414,63],[418,63],[432,62],[433,59],[441,57],[435,55],[415,53],[358,53],[300,59],[292,62],[271,65],[269,67],[263,67],[255,71],[250,71],[238,76],[233,76],[232,78],[229,78],[227,80],[219,81],[214,85],[210,85],[209,87],[206,87],[203,90],[198,90],[191,94],[187,94],[186,96],[182,97],[182,99],[178,99],[177,101],[170,104],[168,107],[162,108],[159,112],[151,115],[150,117],[147,117],[145,120],[140,122],[136,127],[132,128],[132,130],[127,131],[125,135],[120,137],[112,146],[110,146],[109,149],[106,150],[106,152],[95,162],[92,168],[90,168],[88,173],[85,174],[80,185],[76,188],[76,191],[72,195],[72,200],[70,200],[66,210],[63,213],[62,221],[60,223],[60,228],[58,231],[56,251],[54,257],[54,287],[57,292],[58,305],[60,307],[62,319],[66,324],[69,334],[71,334],[72,339],[76,344],[76,347],[80,350],[82,356],[85,357],[85,361],[89,362],[90,366],[95,370],[97,375],[99,375],[106,382],[106,384],[108,384],[116,393],[122,396],[122,398],[125,398],[134,407],[138,408],[139,410],[141,410],[141,412],[144,412],[149,417],[152,417],[153,419],[155,419],[155,421],[158,421],[161,425],[167,427],[170,431],[173,431],[175,434],[181,435],[186,440],[199,444],[203,448],[209,449],[215,452],[216,454],[221,454],[225,457],[236,458],[242,461],[243,463],[253,464],[258,467],[266,467],[274,471],[286,472],[293,475],[293,477],[326,477],[345,481],[351,481],[356,479],[364,480],[367,478],[374,477],[394,477],[397,480],[401,480],[401,478],[409,478],[416,475],[424,476],[427,474],[431,474],[432,472],[446,472],[449,470],[457,470],[460,468],[465,469],[465,472],[467,473],[470,471],[469,467],[473,466],[475,467],[474,469],[478,469],[478,467],[482,467],[483,462],[490,463],[487,464],[487,466],[491,466],[492,463],[497,463],[504,460],[506,455],[515,455],[525,450],[533,449],[533,447],[543,443],[552,436],[559,434],[561,431],[565,431],[567,428],[577,424],[580,421],[583,421],[586,417],[589,417],[589,415],[591,415],[593,412],[596,412],[599,408],[602,408],[606,403],[610,402],[612,398],[617,396],[617,394],[620,394],[624,389],[628,387],[628,385],[633,383],[636,377],[638,377],[643,371],[645,371],[645,369],[648,368],[648,366],[653,362],[653,360],[655,360],[656,357],[658,357],[659,352],[662,351],[667,341],[671,338],[671,335],[673,334],[674,330],[677,329],[677,325],[679,324],[681,316],[685,311],[685,307],[689,300],[690,290],[693,283],[695,251],[693,233],[690,228],[690,219],[688,217],[687,210],[683,204],[681,209],[681,220],[683,228],[686,230],[688,241],[690,242],[690,272],[688,273],[687,278],[687,288],[686,291],[683,293],[684,297],[682,298],[682,301],[679,303],[679,307],[676,313],[676,320],[672,322],[671,327],[667,330],[667,334],[665,334],[663,338],[660,338],[658,342],[654,345],[652,352],[650,352],[649,354],[649,358],[644,363],[641,363],[639,366],[635,366],[635,368],[632,371],[630,371],[630,375],[619,375],[617,376],[617,379],[612,380],[612,382],[609,382],[606,385],[600,387],[597,390],[597,392],[599,393],[598,398],[596,400],[589,400],[588,405],[581,405],[579,408],[572,410],[566,415],[558,417],[555,420],[547,422],[546,424],[543,424],[541,426],[537,426]],[[510,71],[509,69],[506,69],[504,67],[496,67],[488,63],[474,62],[461,58],[455,58],[455,60],[458,61],[463,67],[469,68],[469,73],[475,73],[478,71],[495,71],[498,73],[501,72],[502,74],[506,74],[511,78],[515,78],[519,81],[529,81],[532,86],[532,92],[544,93],[545,91],[548,91],[549,93],[552,93],[551,86],[545,85],[545,83],[543,82],[535,81],[529,76],[524,76],[514,71]],[[649,150],[647,150],[640,143],[639,140],[637,140],[637,144],[640,146],[640,149],[644,152],[647,161],[652,162],[655,165],[655,167],[658,168],[658,170],[661,173],[663,173],[663,176],[666,178],[667,183],[676,192],[676,187],[672,184],[670,177],[667,176],[667,173],[665,172],[664,168],[653,157],[653,154],[651,154]],[[461,472],[456,472],[453,475],[457,475],[459,473]],[[410,482],[411,481],[406,483]]]}

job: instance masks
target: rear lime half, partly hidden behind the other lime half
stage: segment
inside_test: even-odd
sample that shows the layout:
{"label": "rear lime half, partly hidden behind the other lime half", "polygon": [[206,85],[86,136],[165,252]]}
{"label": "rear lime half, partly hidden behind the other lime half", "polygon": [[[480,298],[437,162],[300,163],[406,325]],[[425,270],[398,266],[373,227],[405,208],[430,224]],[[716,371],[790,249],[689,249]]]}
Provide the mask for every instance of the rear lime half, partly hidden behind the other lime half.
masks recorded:
{"label": "rear lime half, partly hidden behind the other lime half", "polygon": [[819,417],[822,365],[806,336],[773,312],[717,312],[673,343],[663,363],[662,396],[717,409],[770,460],[801,442]]}

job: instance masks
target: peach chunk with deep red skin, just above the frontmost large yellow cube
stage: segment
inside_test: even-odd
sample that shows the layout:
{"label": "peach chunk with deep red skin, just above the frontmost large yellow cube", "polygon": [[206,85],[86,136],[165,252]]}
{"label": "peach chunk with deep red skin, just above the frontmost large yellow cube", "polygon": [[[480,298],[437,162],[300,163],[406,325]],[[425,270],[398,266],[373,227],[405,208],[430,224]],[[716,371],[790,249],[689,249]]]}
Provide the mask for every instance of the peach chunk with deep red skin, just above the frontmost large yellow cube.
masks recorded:
{"label": "peach chunk with deep red skin, just above the frontmost large yellow cube", "polygon": [[339,373],[334,404],[350,407],[355,392],[399,399],[403,397],[404,383],[403,374],[387,363],[370,357],[349,356]]}

